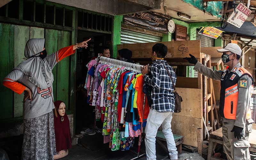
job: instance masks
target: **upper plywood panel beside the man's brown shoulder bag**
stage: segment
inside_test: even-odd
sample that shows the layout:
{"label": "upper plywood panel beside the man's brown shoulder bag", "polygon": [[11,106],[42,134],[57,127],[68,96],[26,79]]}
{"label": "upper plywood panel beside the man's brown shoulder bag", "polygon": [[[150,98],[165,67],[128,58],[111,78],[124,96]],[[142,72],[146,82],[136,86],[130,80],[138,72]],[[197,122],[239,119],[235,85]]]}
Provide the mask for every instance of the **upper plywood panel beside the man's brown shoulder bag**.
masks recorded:
{"label": "upper plywood panel beside the man's brown shoulder bag", "polygon": [[176,90],[183,99],[181,102],[182,110],[180,113],[174,113],[173,115],[201,118],[203,116],[201,89],[176,88]]}

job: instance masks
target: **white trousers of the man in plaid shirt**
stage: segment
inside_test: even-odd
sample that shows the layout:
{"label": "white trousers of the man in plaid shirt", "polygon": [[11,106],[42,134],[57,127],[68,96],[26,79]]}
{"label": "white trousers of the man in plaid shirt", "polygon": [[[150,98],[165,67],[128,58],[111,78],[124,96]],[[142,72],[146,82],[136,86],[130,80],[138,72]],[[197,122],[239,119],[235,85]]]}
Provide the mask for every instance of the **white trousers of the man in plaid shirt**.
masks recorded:
{"label": "white trousers of the man in plaid shirt", "polygon": [[178,159],[178,152],[171,129],[172,112],[161,113],[155,109],[149,110],[145,129],[145,145],[147,160],[156,160],[156,133],[162,124],[162,131],[167,142],[167,148],[171,160]]}

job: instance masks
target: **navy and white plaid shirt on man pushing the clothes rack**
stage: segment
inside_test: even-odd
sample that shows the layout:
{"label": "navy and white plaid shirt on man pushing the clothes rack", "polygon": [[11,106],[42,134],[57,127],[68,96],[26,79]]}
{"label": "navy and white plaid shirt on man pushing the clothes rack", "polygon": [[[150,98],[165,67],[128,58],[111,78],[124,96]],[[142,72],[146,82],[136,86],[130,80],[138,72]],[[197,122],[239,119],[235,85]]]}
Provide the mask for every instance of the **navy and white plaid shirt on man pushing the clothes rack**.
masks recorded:
{"label": "navy and white plaid shirt on man pushing the clothes rack", "polygon": [[174,112],[175,96],[173,93],[173,84],[164,65],[169,70],[175,85],[177,80],[176,74],[166,60],[155,60],[149,68],[149,74],[144,75],[144,81],[153,87],[151,92],[151,108],[156,109],[158,112]]}

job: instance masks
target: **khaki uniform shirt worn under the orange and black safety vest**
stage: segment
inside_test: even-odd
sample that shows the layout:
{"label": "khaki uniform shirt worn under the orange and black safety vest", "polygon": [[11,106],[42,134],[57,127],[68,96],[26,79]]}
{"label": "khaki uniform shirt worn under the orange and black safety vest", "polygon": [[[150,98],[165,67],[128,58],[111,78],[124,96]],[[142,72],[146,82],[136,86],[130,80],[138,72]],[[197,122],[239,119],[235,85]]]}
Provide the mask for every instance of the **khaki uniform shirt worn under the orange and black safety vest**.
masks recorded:
{"label": "khaki uniform shirt worn under the orange and black safety vest", "polygon": [[[241,66],[240,63],[238,63],[234,68],[239,68]],[[232,70],[234,69],[232,68]],[[206,67],[205,65],[197,62],[196,66],[194,67],[194,70],[201,73],[204,76],[207,76],[209,78],[212,78],[214,80],[219,80],[222,75],[222,71],[218,70],[212,70],[211,68]],[[232,71],[231,70],[231,71]],[[229,72],[229,70],[228,70]],[[251,99],[251,93],[252,93],[252,79],[249,75],[242,76],[243,78],[247,78],[247,88],[240,88],[238,87],[238,101],[237,101],[237,108],[236,108],[236,120],[234,119],[227,119],[223,117],[223,122],[232,122],[235,121],[235,126],[244,128],[245,127],[245,121],[246,121],[246,113],[247,110],[250,109],[250,99]],[[242,78],[240,77],[240,78]],[[239,85],[239,81],[238,84]],[[252,123],[253,120],[249,119],[249,123]]]}

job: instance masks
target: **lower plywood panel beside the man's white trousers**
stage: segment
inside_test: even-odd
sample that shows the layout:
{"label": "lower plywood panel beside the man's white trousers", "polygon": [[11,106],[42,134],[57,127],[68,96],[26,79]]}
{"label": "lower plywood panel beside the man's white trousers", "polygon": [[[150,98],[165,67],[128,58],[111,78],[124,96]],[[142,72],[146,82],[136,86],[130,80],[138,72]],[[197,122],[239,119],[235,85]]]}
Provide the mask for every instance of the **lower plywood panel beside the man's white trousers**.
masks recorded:
{"label": "lower plywood panel beside the man's white trousers", "polygon": [[203,128],[201,118],[173,115],[171,124],[173,134],[184,136],[183,144],[197,147],[197,129]]}

